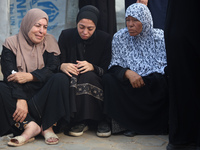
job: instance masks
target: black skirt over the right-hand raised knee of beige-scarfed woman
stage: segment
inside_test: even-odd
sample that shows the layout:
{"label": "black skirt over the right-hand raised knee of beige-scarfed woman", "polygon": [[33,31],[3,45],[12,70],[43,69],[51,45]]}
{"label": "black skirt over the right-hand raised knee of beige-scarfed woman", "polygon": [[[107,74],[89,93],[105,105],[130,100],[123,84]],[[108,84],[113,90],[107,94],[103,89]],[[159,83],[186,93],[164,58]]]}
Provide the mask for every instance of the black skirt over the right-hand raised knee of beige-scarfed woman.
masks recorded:
{"label": "black skirt over the right-hand raised knee of beige-scarfed woman", "polygon": [[69,122],[69,87],[66,86],[68,83],[67,75],[57,73],[29,100],[30,114],[37,118],[36,121],[42,125],[43,130],[61,118]]}

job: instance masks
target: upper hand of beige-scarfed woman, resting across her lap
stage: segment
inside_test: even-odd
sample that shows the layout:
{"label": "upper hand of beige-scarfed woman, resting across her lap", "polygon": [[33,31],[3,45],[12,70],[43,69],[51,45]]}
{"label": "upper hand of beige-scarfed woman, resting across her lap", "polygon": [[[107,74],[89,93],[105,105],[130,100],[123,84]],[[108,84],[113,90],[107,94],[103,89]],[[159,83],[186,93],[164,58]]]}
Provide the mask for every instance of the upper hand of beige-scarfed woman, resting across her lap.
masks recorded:
{"label": "upper hand of beige-scarfed woman, resting across her lap", "polygon": [[34,77],[31,73],[17,72],[7,77],[8,82],[13,81],[20,84],[33,81]]}

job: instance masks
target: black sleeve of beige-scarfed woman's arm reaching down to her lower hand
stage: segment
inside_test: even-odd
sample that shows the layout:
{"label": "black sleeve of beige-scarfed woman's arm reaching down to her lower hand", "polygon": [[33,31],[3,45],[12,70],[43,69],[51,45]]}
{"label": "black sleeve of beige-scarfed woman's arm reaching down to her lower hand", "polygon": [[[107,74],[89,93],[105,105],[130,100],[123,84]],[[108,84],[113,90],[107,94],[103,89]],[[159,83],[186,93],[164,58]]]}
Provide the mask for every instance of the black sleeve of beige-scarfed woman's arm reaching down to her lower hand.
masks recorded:
{"label": "black sleeve of beige-scarfed woman's arm reaching down to her lower hand", "polygon": [[12,70],[17,71],[16,56],[11,50],[3,46],[1,54],[1,71],[4,76],[3,80],[10,87],[13,98],[26,100],[27,96],[23,91],[23,85],[15,82],[8,82],[7,80],[7,77],[11,74]]}

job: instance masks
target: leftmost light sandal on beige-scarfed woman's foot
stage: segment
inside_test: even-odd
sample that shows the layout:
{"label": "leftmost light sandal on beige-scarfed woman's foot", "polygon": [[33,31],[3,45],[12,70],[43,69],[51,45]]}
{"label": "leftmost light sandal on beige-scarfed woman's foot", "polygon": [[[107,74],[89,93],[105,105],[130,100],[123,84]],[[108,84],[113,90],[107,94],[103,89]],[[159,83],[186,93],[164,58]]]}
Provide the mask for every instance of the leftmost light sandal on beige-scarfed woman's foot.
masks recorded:
{"label": "leftmost light sandal on beige-scarfed woman's foot", "polygon": [[10,141],[8,142],[8,146],[14,146],[14,147],[22,146],[22,145],[32,142],[34,140],[35,140],[34,137],[26,140],[26,138],[23,136],[16,136],[16,137],[10,139]]}

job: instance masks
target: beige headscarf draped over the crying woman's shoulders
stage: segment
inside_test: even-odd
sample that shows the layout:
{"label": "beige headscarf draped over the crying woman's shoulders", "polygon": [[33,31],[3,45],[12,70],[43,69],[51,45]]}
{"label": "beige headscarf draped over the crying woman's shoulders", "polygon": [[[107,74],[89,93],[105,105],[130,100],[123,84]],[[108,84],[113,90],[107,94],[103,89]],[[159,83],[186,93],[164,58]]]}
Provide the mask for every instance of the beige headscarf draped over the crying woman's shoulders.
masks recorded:
{"label": "beige headscarf draped over the crying woman's shoulders", "polygon": [[28,37],[28,33],[37,21],[47,19],[48,15],[38,8],[33,8],[27,12],[21,22],[17,35],[11,36],[3,44],[16,55],[16,63],[19,72],[32,72],[44,67],[43,53],[48,51],[54,55],[60,54],[56,39],[46,34],[44,40],[39,44],[34,44]]}

